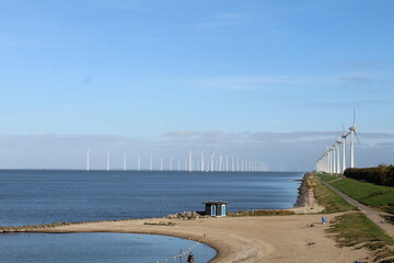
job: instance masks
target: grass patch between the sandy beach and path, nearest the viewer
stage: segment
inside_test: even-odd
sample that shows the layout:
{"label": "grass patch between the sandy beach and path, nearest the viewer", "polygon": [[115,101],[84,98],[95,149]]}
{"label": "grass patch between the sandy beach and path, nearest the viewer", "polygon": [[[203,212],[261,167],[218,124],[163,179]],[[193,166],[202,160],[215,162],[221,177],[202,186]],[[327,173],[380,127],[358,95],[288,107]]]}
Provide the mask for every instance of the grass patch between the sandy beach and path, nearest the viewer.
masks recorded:
{"label": "grass patch between the sandy beach and path, nearest the viewer", "polygon": [[335,218],[327,229],[335,235],[339,247],[367,248],[374,251],[374,261],[394,258],[394,239],[386,236],[382,229],[374,225],[361,213],[350,213]]}

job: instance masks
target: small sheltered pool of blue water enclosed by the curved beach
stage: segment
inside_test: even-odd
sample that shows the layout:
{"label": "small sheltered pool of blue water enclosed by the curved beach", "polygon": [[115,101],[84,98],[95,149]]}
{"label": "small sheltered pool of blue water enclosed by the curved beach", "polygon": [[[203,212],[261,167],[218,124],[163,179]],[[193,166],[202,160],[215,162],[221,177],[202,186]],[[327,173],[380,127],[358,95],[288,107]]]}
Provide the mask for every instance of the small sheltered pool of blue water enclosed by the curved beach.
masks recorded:
{"label": "small sheltered pool of blue water enclosed by the curved beach", "polygon": [[[179,259],[175,260],[174,256],[181,249],[186,251],[196,241],[131,233],[1,235],[0,263],[179,263]],[[213,249],[202,243],[193,247],[192,252],[196,255],[196,262],[208,262],[216,255]]]}

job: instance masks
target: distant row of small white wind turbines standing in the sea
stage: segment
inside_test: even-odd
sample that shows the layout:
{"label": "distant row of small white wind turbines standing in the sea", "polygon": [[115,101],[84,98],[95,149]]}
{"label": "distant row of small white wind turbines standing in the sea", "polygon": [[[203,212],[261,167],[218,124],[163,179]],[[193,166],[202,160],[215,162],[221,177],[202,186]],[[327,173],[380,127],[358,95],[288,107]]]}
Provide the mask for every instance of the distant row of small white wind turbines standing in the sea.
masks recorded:
{"label": "distant row of small white wind turbines standing in the sea", "polygon": [[[91,150],[88,150],[86,171],[91,170]],[[160,169],[154,169],[153,155],[150,155],[148,168],[149,171],[188,171],[188,172],[265,172],[268,171],[268,163],[247,158],[240,158],[230,155],[217,155],[217,151],[210,153],[209,160],[206,160],[206,151],[202,150],[197,161],[193,157],[193,149],[189,150],[185,159],[169,158],[169,164],[164,168],[164,158],[160,158]],[[127,153],[124,153],[123,170],[127,171]],[[182,163],[184,167],[182,168]],[[106,171],[111,170],[111,152],[106,153]],[[137,156],[136,171],[141,171],[141,155]]]}

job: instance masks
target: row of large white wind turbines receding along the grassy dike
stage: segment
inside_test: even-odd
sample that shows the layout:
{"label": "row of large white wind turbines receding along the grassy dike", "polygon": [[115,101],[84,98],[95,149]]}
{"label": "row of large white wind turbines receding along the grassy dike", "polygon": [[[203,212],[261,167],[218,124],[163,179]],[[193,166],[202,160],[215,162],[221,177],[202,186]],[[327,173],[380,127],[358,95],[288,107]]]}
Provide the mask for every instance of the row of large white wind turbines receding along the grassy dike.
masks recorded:
{"label": "row of large white wind turbines receding along the grassy dike", "polygon": [[[345,130],[343,125],[344,133],[340,135],[340,138],[335,140],[335,142],[328,147],[326,146],[326,150],[316,161],[316,171],[317,172],[326,172],[326,173],[339,173],[343,174],[347,168],[355,168],[355,137],[360,142],[359,137],[357,135],[357,126],[356,126],[356,111],[354,111],[354,124]],[[349,150],[349,159],[350,163],[347,165],[346,162],[346,141],[347,137],[350,135],[350,150]],[[341,150],[340,150],[341,147]],[[341,153],[340,153],[341,152]],[[340,158],[341,156],[341,158]],[[341,161],[340,161],[341,160]]]}

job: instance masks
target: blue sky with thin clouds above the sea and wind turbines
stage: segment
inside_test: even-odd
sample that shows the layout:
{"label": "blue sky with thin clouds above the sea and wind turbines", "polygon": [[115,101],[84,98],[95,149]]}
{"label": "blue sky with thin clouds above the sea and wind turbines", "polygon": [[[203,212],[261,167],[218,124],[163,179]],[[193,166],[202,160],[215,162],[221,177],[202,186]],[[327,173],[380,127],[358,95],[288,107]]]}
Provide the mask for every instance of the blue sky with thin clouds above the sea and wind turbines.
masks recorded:
{"label": "blue sky with thin clouds above the sea and wind turbines", "polygon": [[0,167],[193,146],[311,169],[354,108],[358,165],[392,163],[393,13],[390,0],[1,0]]}

